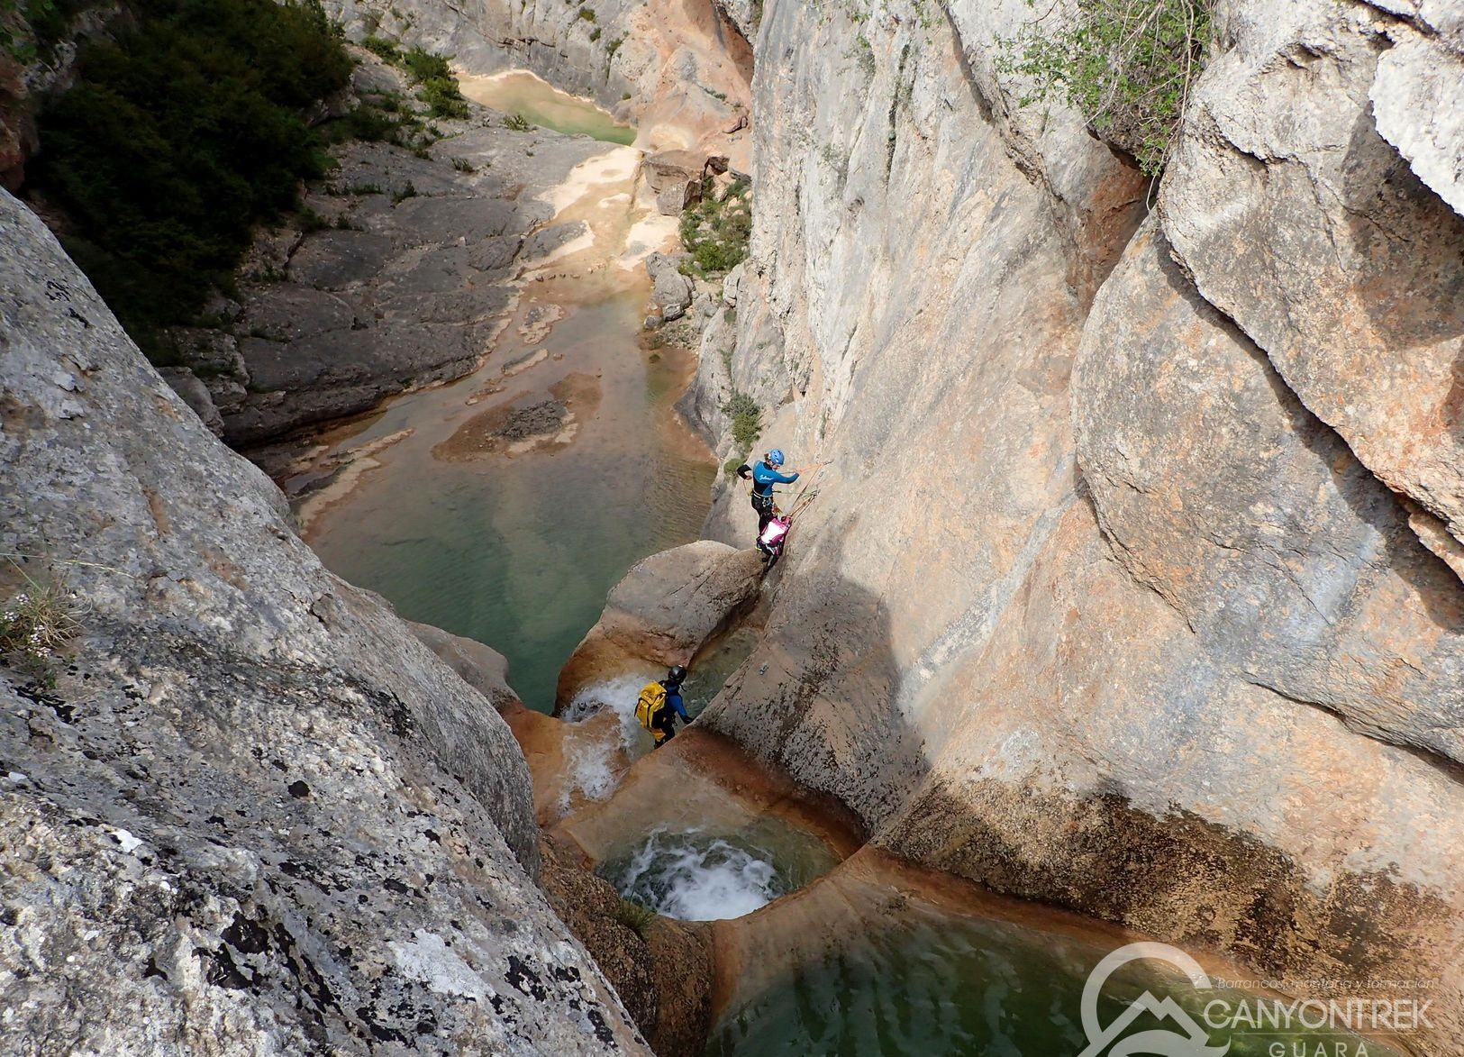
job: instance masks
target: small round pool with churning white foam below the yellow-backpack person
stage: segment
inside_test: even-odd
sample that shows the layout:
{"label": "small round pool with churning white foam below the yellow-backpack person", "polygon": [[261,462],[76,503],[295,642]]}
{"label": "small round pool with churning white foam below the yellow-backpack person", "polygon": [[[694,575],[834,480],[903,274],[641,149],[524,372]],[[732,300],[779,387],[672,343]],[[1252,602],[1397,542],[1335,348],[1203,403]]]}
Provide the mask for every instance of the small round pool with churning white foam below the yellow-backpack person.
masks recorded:
{"label": "small round pool with churning white foam below the yellow-backpack person", "polygon": [[657,914],[719,921],[751,914],[810,884],[836,862],[817,836],[764,815],[733,833],[657,827],[599,873],[622,896]]}

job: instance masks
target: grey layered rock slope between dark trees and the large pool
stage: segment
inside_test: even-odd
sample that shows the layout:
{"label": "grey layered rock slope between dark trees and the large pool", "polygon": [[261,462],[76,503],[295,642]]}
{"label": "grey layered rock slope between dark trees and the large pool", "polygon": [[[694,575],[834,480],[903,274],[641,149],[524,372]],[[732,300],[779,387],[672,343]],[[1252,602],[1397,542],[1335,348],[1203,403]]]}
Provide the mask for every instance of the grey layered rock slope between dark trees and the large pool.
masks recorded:
{"label": "grey layered rock slope between dark trees and the large pool", "polygon": [[[233,324],[242,363],[234,381],[247,389],[239,398],[211,386],[215,403],[224,398],[230,444],[365,411],[408,385],[458,378],[482,363],[512,305],[520,249],[543,255],[578,231],[572,224],[534,231],[548,208],[490,164],[523,154],[518,139],[499,127],[461,130],[451,158],[474,171],[454,168],[445,148],[423,160],[356,143],[337,176],[346,198],[319,195],[312,208],[360,230],[262,237],[262,246],[285,249],[271,264],[277,281],[246,287]],[[553,133],[543,139],[539,182],[555,183],[602,149]],[[401,198],[408,187],[411,196]]]}

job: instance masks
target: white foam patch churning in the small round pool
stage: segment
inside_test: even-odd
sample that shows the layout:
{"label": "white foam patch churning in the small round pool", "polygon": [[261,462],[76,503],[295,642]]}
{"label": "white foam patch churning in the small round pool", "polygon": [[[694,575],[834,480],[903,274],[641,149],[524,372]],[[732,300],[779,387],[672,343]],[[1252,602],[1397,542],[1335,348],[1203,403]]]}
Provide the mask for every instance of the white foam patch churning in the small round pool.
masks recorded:
{"label": "white foam patch churning in the small round pool", "polygon": [[766,858],[700,830],[654,830],[610,880],[622,896],[682,921],[741,918],[785,892]]}

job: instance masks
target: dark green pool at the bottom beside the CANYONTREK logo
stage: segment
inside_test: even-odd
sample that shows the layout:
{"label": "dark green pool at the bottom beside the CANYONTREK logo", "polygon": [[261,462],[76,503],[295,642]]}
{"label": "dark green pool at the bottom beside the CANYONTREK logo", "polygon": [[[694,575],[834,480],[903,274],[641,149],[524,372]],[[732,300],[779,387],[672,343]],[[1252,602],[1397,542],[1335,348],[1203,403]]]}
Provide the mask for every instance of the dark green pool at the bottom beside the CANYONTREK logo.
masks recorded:
{"label": "dark green pool at the bottom beside the CANYONTREK logo", "polygon": [[[848,912],[845,905],[845,912]],[[1028,924],[975,918],[900,896],[859,906],[856,927],[821,956],[738,996],[706,1050],[709,1057],[1067,1057],[1088,1045],[1082,991],[1113,950]],[[1117,944],[1114,944],[1117,946]],[[1110,978],[1099,1023],[1116,1020],[1143,991],[1173,997],[1205,1028],[1208,1001],[1252,993],[1195,991],[1136,963]],[[1217,1007],[1217,1023],[1224,1016]],[[1132,1031],[1173,1029],[1143,1015]],[[1230,1057],[1397,1057],[1351,1034],[1206,1029]],[[1294,1050],[1300,1045],[1301,1050]],[[1281,1048],[1277,1048],[1281,1047]],[[1130,1053],[1101,1048],[1099,1053]],[[1149,1050],[1205,1057],[1205,1050]],[[1224,1051],[1211,1050],[1208,1057]]]}

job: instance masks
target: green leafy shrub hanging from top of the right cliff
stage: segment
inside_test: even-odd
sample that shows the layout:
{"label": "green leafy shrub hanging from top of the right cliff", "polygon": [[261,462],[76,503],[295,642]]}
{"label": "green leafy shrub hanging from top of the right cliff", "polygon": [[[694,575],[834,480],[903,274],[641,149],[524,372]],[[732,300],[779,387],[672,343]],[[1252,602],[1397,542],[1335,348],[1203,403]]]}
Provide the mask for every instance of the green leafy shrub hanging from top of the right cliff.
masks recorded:
{"label": "green leafy shrub hanging from top of the right cliff", "polygon": [[[1035,7],[1037,0],[1026,0]],[[1148,174],[1168,160],[1212,40],[1212,0],[1078,0],[1060,29],[998,41],[998,69],[1032,81],[1022,105],[1060,98]]]}

